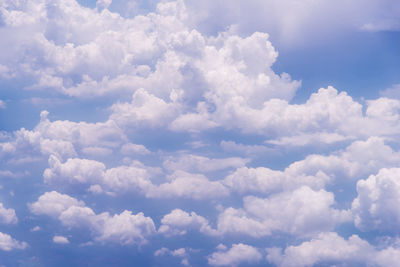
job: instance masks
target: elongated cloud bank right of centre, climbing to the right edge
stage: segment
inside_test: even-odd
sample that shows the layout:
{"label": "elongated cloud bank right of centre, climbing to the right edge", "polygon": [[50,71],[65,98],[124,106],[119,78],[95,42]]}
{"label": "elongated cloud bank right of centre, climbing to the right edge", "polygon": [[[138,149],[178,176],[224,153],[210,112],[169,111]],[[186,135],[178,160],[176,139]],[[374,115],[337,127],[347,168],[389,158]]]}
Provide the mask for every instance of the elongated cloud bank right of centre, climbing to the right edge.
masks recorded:
{"label": "elongated cloud bank right of centre, climbing to the right edge", "polygon": [[340,184],[400,163],[400,153],[380,137],[357,140],[343,150],[329,155],[311,154],[291,163],[283,171],[269,168],[241,167],[225,177],[222,183],[233,191],[271,193],[307,185],[315,190],[328,184]]}

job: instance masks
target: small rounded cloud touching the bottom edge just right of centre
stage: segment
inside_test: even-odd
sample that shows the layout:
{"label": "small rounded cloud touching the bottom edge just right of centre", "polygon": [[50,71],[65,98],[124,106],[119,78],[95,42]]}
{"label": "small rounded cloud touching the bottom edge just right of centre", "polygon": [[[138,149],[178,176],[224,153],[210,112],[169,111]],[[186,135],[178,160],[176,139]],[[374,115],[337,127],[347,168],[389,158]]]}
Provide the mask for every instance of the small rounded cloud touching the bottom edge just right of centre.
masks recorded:
{"label": "small rounded cloud touching the bottom edge just right of centre", "polygon": [[257,248],[239,243],[233,244],[226,252],[214,252],[207,260],[213,266],[238,266],[243,263],[255,264],[261,259],[262,254]]}

